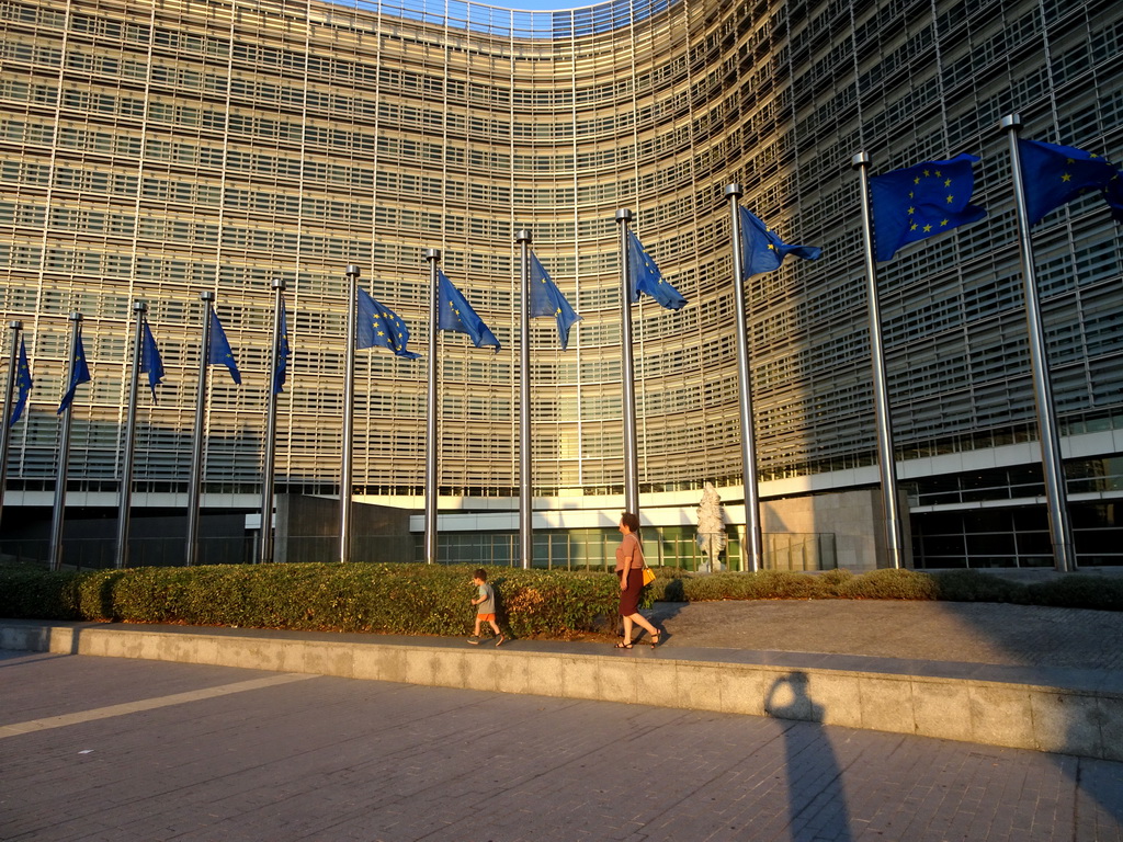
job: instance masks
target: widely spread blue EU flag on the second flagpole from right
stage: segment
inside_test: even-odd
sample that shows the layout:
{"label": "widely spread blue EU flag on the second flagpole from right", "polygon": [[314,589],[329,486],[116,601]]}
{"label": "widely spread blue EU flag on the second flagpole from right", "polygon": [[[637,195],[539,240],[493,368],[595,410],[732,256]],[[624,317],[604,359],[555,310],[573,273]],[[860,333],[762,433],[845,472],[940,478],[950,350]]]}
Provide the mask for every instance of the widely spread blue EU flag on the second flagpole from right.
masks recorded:
{"label": "widely spread blue EU flag on the second flagpole from right", "polygon": [[877,259],[897,249],[986,217],[970,203],[975,190],[974,155],[929,161],[869,180]]}

